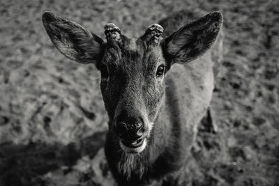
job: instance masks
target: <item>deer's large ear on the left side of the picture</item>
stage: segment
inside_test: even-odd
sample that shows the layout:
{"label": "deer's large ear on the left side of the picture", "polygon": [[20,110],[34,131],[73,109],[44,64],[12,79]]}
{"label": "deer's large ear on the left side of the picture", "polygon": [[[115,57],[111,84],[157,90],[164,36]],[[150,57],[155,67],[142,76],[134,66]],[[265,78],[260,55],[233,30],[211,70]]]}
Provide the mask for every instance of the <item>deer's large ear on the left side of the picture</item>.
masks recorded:
{"label": "deer's large ear on the left side of the picture", "polygon": [[54,46],[69,59],[97,64],[102,58],[105,42],[101,38],[80,24],[54,13],[45,12],[42,18]]}

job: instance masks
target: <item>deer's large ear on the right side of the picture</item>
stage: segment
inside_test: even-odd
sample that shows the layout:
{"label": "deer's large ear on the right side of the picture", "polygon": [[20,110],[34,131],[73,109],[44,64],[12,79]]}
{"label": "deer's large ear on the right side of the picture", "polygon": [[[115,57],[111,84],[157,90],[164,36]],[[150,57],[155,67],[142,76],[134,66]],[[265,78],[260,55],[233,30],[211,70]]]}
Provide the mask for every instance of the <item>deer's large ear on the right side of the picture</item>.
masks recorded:
{"label": "deer's large ear on the right side of the picture", "polygon": [[202,56],[216,40],[223,16],[213,12],[190,22],[163,40],[166,59],[172,63],[188,63]]}

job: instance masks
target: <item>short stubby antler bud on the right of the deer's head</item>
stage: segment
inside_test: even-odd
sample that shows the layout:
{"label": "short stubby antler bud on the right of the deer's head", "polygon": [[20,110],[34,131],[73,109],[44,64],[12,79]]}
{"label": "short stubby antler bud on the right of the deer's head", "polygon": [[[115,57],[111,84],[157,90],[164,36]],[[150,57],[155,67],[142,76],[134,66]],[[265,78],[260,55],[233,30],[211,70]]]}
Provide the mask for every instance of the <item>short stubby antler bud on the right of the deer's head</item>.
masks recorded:
{"label": "short stubby antler bud on the right of the deer's head", "polygon": [[146,45],[158,45],[162,39],[163,27],[160,24],[151,24],[144,33]]}

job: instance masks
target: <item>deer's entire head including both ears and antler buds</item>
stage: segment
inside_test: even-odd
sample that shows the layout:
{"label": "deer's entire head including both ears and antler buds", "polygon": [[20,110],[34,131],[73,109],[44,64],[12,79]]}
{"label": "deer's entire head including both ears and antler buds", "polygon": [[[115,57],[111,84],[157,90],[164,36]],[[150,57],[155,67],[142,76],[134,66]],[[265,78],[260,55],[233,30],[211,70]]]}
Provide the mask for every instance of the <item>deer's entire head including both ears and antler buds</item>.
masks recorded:
{"label": "deer's entire head including both ears and antler buds", "polygon": [[128,153],[148,145],[165,98],[165,74],[172,63],[187,63],[211,47],[222,24],[211,13],[162,41],[163,27],[152,24],[140,38],[127,38],[114,24],[105,26],[107,42],[66,18],[44,13],[43,23],[59,51],[80,63],[95,63],[110,117],[109,127]]}

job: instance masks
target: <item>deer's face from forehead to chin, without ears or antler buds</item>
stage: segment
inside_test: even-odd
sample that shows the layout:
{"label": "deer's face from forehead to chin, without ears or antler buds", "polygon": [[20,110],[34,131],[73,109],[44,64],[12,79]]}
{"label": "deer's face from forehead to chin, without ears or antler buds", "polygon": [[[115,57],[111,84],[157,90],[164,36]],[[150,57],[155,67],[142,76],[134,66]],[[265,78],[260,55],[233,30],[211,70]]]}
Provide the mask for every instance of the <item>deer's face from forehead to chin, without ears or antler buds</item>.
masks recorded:
{"label": "deer's face from forehead to chin, without ears or antler buds", "polygon": [[121,148],[140,152],[163,104],[167,63],[160,46],[146,47],[141,39],[122,42],[105,50],[100,87]]}

